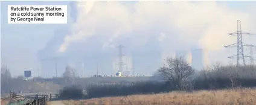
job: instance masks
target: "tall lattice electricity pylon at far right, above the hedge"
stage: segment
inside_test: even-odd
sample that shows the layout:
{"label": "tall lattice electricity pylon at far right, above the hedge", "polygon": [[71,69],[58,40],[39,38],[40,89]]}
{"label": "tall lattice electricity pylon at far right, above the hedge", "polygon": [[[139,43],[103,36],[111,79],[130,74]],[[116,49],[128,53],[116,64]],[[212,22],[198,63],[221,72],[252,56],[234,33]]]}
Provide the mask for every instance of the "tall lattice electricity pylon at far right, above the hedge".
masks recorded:
{"label": "tall lattice electricity pylon at far right, above the hedge", "polygon": [[242,66],[242,65],[246,66],[246,64],[245,64],[245,57],[249,57],[249,56],[245,56],[244,55],[243,46],[251,46],[251,45],[248,45],[246,43],[243,43],[242,34],[249,34],[249,33],[242,32],[241,21],[237,20],[237,31],[234,32],[234,33],[229,33],[229,35],[237,36],[237,42],[233,43],[231,45],[228,45],[228,46],[224,46],[225,48],[232,47],[232,46],[236,46],[237,47],[237,54],[234,55],[234,56],[228,57],[229,59],[237,58],[237,66]]}

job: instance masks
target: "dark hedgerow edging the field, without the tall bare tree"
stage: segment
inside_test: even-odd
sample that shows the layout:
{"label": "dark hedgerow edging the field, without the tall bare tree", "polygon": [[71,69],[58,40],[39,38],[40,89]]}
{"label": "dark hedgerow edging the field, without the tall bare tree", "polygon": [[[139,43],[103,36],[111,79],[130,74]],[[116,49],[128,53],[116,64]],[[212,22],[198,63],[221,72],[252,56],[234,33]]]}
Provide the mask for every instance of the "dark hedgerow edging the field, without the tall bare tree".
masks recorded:
{"label": "dark hedgerow edging the field, without the tall bare tree", "polygon": [[[161,80],[163,78],[156,77]],[[71,98],[65,94],[68,91],[76,90],[77,98],[100,98],[125,96],[133,94],[157,94],[170,91],[196,91],[196,90],[213,90],[213,89],[234,89],[234,88],[254,88],[256,87],[256,66],[220,66],[214,65],[197,71],[184,81],[181,88],[168,80],[140,81],[136,83],[119,83],[119,84],[91,84],[86,88],[70,88],[60,92],[63,98]],[[80,90],[80,91],[77,91]],[[82,94],[84,90],[84,94]],[[86,93],[85,93],[86,91]],[[75,96],[75,92],[72,97]],[[62,95],[65,94],[65,95]]]}

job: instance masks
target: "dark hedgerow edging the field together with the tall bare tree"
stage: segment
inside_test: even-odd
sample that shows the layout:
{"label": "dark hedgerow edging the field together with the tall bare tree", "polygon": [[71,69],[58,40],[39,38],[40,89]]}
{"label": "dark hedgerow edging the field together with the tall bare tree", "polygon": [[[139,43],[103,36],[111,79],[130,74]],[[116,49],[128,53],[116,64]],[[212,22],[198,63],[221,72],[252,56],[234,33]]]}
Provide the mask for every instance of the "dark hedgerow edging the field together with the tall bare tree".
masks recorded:
{"label": "dark hedgerow edging the field together with the tall bare tree", "polygon": [[[213,89],[254,88],[256,86],[255,65],[237,66],[216,63],[200,71],[192,68],[182,57],[167,58],[166,63],[155,74],[156,80],[135,83],[91,84],[86,88],[63,89],[60,95],[72,89],[80,93],[79,97],[99,98],[132,94],[157,94],[170,91],[196,91]],[[73,90],[74,91],[74,90]],[[86,94],[82,95],[82,91]],[[72,97],[74,98],[74,92]],[[69,95],[62,95],[69,98]]]}

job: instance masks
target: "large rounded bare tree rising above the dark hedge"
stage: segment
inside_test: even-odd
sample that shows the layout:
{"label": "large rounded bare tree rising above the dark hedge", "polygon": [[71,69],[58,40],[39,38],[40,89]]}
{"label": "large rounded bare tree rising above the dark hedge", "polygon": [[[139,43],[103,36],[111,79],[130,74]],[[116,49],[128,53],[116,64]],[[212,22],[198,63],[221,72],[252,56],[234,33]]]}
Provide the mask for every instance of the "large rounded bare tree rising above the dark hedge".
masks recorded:
{"label": "large rounded bare tree rising above the dark hedge", "polygon": [[182,89],[182,83],[184,83],[190,75],[194,74],[194,69],[191,68],[183,57],[167,57],[164,66],[158,69],[158,74],[162,75],[165,80],[176,85],[177,89]]}

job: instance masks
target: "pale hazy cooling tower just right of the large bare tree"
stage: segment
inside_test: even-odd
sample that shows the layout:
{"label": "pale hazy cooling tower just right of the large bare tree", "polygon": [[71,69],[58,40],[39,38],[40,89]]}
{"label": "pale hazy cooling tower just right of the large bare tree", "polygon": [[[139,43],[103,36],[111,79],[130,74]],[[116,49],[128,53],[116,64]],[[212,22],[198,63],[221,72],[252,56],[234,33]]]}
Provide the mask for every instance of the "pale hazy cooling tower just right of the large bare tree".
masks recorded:
{"label": "pale hazy cooling tower just right of the large bare tree", "polygon": [[192,66],[196,70],[203,68],[203,49],[193,49],[191,51]]}

